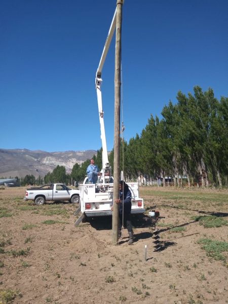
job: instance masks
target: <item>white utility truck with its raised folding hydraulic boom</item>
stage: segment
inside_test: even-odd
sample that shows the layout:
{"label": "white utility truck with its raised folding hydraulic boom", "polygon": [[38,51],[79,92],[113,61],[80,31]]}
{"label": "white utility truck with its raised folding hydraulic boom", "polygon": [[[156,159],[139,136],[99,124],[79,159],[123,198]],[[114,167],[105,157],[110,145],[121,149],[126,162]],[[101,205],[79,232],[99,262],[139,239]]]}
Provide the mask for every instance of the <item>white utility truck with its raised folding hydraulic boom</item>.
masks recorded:
{"label": "white utility truck with its raised folding hydraulic boom", "polygon": [[[85,177],[82,184],[79,185],[80,190],[80,207],[75,211],[75,215],[80,211],[82,215],[75,225],[78,225],[83,218],[85,217],[94,217],[94,216],[106,216],[112,215],[113,205],[113,185],[114,181],[111,176],[111,170],[108,162],[107,155],[107,145],[104,129],[104,111],[102,107],[102,95],[101,95],[101,72],[104,65],[104,61],[111,43],[113,33],[116,28],[117,23],[117,10],[112,18],[111,26],[108,32],[108,36],[104,45],[103,53],[101,55],[100,63],[96,72],[96,91],[97,91],[97,102],[98,102],[98,112],[99,112],[99,121],[100,121],[100,132],[101,132],[101,141],[102,141],[102,169],[101,174],[98,176],[98,180],[95,183],[89,183],[88,176]],[[117,174],[118,175],[118,174]],[[119,186],[119,178],[117,182]],[[143,208],[143,199],[139,197],[138,193],[138,182],[128,182],[129,189],[132,194],[132,207],[131,213],[143,213],[145,209]],[[119,195],[119,189],[118,189]]]}

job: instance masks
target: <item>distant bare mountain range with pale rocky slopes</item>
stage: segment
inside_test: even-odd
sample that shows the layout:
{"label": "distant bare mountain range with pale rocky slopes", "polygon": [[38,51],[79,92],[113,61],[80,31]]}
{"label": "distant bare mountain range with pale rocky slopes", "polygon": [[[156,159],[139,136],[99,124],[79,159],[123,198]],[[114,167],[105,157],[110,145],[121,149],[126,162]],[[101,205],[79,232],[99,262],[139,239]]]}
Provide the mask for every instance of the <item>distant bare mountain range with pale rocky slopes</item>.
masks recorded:
{"label": "distant bare mountain range with pale rocky slopes", "polygon": [[0,178],[25,177],[34,175],[44,177],[48,172],[64,166],[70,173],[73,165],[90,159],[97,151],[46,152],[28,149],[0,149]]}

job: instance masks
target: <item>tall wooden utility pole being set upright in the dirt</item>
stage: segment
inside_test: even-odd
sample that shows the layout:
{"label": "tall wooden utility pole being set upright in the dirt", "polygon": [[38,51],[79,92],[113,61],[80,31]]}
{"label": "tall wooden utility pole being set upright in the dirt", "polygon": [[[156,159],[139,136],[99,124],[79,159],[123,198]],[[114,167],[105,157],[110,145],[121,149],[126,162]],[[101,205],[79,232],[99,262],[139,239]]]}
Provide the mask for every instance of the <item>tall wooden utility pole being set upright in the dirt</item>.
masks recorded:
{"label": "tall wooden utility pole being set upright in the dirt", "polygon": [[115,52],[115,130],[114,130],[114,162],[113,162],[113,212],[112,243],[118,244],[120,183],[120,101],[121,101],[121,29],[123,0],[117,0],[116,52]]}

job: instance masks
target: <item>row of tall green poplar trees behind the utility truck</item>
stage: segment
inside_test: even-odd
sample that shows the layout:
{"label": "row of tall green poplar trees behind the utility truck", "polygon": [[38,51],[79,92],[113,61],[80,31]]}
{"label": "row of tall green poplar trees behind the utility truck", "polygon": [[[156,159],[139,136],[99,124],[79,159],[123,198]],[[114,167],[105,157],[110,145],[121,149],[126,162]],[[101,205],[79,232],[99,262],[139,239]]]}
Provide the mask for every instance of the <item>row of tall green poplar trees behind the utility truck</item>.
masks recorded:
{"label": "row of tall green poplar trees behind the utility truck", "polygon": [[[172,177],[177,185],[185,178],[189,186],[227,186],[228,98],[217,100],[212,89],[203,92],[196,86],[194,94],[186,96],[179,91],[177,103],[170,101],[162,117],[159,120],[151,115],[140,136],[121,143],[125,177],[143,176],[147,181],[161,178],[164,186],[165,177]],[[101,149],[96,163],[101,168]],[[113,150],[109,163],[113,168]],[[84,163],[79,166],[84,167]]]}

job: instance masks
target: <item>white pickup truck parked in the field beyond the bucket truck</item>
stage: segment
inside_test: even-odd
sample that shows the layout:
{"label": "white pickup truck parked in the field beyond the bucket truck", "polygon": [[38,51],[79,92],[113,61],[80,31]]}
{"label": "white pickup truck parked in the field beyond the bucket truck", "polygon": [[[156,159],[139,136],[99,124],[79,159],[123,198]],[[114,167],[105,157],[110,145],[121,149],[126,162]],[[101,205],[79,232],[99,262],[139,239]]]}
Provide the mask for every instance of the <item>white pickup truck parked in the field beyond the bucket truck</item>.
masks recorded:
{"label": "white pickup truck parked in the field beyond the bucket truck", "polygon": [[80,191],[61,183],[53,183],[26,189],[24,200],[32,200],[35,205],[43,205],[45,201],[69,201],[75,204],[80,201]]}

